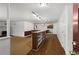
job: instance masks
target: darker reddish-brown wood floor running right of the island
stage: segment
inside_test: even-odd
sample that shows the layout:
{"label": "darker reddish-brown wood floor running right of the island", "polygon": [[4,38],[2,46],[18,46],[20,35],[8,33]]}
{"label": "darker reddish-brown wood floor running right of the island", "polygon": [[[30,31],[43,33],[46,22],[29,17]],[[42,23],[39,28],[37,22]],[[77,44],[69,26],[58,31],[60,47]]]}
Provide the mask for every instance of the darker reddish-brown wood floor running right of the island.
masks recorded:
{"label": "darker reddish-brown wood floor running right of the island", "polygon": [[28,55],[65,55],[56,35],[47,34],[45,44],[38,51],[31,50]]}

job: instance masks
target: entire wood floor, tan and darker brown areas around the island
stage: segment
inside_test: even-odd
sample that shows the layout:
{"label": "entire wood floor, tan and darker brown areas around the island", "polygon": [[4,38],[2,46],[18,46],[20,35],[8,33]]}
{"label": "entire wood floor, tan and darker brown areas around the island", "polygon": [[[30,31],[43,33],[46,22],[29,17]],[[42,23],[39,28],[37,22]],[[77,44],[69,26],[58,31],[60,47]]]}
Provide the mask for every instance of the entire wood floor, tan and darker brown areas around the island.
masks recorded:
{"label": "entire wood floor, tan and darker brown areas around the island", "polygon": [[32,37],[12,37],[11,55],[65,55],[58,38],[54,34],[47,34],[47,40],[38,51],[32,50]]}

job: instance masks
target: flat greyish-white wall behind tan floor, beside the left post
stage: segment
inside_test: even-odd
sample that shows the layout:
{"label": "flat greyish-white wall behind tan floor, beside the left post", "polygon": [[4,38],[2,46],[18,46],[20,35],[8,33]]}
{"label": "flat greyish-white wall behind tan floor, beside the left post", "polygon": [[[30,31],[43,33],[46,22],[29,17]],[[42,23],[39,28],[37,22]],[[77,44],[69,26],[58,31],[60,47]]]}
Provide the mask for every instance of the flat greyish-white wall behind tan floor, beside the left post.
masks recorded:
{"label": "flat greyish-white wall behind tan floor, beside the left post", "polygon": [[24,22],[12,21],[11,22],[11,35],[24,36]]}

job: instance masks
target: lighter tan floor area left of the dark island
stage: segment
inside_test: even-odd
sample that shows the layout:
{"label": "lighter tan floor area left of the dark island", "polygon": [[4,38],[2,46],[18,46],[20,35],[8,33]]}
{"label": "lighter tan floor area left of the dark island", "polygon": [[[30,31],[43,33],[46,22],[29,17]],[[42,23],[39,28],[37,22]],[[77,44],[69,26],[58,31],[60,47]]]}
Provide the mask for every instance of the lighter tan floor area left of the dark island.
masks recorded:
{"label": "lighter tan floor area left of the dark island", "polygon": [[32,37],[12,37],[11,55],[26,55],[32,49]]}

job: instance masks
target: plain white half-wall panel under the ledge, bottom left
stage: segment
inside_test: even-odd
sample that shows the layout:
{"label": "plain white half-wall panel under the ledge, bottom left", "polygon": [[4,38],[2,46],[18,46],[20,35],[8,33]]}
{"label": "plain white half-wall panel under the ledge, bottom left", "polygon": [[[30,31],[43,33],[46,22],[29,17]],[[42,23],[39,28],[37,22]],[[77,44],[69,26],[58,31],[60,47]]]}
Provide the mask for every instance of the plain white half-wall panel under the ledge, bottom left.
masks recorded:
{"label": "plain white half-wall panel under the ledge, bottom left", "polygon": [[0,40],[0,55],[10,55],[10,38]]}

